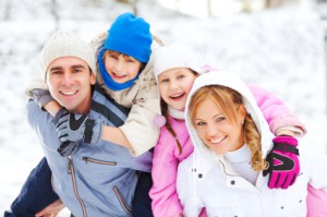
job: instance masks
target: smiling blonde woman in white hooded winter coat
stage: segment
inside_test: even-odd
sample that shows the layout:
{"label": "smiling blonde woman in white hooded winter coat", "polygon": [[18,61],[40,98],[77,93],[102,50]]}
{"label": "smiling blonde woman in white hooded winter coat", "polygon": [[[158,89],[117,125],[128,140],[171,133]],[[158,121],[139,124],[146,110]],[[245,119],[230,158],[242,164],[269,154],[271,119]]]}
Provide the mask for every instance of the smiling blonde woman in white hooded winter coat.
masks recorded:
{"label": "smiling blonde woman in white hooded winter coat", "polygon": [[[302,152],[301,176],[287,190],[269,189],[263,171],[274,135],[245,84],[232,73],[199,76],[186,103],[194,153],[179,166],[184,216],[306,216],[307,184],[327,191],[327,158]],[[277,143],[295,144],[289,136]],[[275,160],[282,153],[274,155]]]}

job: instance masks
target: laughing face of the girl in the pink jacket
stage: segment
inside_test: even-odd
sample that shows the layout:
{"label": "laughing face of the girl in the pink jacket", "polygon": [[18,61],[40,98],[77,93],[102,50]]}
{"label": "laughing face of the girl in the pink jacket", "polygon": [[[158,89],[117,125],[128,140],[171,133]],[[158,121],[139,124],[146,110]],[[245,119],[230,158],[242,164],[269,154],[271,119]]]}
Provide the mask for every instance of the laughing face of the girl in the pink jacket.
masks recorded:
{"label": "laughing face of the girl in the pink jacket", "polygon": [[189,68],[175,68],[160,73],[158,87],[161,98],[172,108],[184,110],[196,76]]}

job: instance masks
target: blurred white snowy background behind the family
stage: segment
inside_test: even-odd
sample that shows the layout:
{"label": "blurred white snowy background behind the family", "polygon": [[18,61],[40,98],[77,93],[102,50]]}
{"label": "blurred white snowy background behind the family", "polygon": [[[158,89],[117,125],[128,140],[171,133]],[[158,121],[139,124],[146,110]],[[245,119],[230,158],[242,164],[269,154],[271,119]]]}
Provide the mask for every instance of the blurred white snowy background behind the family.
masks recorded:
{"label": "blurred white snowy background behind the family", "polygon": [[[0,215],[43,157],[26,123],[24,88],[46,39],[56,28],[63,28],[90,40],[117,15],[132,11],[131,5],[116,1],[58,0],[58,14],[53,15],[49,2],[0,2]],[[307,126],[301,143],[326,154],[326,25],[322,10],[294,4],[204,19],[168,10],[152,0],[140,1],[137,9],[164,41],[183,40],[202,62],[234,71],[247,83],[282,98]],[[68,216],[66,212],[61,216]]]}

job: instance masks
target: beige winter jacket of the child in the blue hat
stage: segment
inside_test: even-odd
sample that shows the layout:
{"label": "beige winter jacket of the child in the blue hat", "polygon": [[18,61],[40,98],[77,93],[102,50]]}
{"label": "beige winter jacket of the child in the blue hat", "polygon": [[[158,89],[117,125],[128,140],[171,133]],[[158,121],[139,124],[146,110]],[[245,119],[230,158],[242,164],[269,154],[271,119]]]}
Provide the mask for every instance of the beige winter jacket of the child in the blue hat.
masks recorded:
{"label": "beige winter jacket of the child in the blue hat", "polygon": [[[107,33],[104,33],[92,40],[90,44],[96,50],[96,55],[98,55],[106,37]],[[113,92],[104,84],[100,73],[97,73],[97,82],[106,93],[118,104],[131,108],[131,112],[125,123],[120,126],[120,130],[131,143],[132,147],[130,147],[130,150],[133,156],[140,156],[154,147],[160,133],[159,126],[155,124],[155,118],[161,112],[160,96],[154,76],[153,53],[164,44],[158,37],[153,36],[153,38],[154,43],[149,61],[130,88]],[[26,94],[29,97],[32,96],[31,91],[34,88],[46,88],[40,74],[32,81],[26,89]]]}

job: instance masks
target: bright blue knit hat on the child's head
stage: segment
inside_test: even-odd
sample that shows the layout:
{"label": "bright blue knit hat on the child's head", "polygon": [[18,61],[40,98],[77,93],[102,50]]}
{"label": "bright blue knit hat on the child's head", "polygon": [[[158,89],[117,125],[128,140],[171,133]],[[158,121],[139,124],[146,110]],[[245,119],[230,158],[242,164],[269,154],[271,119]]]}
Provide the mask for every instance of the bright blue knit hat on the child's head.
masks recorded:
{"label": "bright blue knit hat on the child's head", "polygon": [[131,56],[140,62],[147,62],[152,52],[153,37],[149,24],[132,13],[119,15],[108,31],[106,50]]}

